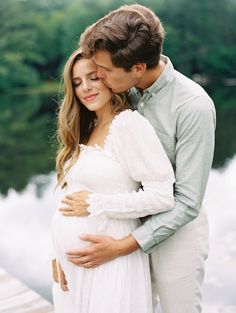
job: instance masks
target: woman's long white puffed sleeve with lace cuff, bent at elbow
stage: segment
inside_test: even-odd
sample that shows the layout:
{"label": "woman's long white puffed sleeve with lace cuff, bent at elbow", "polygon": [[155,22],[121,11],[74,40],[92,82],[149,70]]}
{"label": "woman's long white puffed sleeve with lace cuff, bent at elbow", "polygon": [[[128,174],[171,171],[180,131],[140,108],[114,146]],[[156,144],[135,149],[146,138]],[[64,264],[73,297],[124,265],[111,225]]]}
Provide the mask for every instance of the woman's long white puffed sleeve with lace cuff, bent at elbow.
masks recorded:
{"label": "woman's long white puffed sleeve with lace cuff, bent at elbow", "polygon": [[91,216],[138,218],[170,210],[174,205],[174,173],[171,163],[149,121],[136,111],[115,117],[107,145],[127,175],[142,188],[137,191],[91,193]]}

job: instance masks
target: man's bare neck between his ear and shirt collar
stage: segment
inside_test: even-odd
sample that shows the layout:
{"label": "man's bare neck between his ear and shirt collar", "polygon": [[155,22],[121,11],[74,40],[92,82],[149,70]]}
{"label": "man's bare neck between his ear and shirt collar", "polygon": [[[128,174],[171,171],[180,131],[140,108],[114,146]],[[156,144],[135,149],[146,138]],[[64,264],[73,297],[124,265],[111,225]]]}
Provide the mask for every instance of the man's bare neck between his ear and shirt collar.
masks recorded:
{"label": "man's bare neck between his ear and shirt collar", "polygon": [[160,77],[165,66],[166,63],[163,60],[160,60],[157,67],[155,67],[154,69],[146,70],[139,83],[135,87],[141,89],[142,91],[149,88]]}

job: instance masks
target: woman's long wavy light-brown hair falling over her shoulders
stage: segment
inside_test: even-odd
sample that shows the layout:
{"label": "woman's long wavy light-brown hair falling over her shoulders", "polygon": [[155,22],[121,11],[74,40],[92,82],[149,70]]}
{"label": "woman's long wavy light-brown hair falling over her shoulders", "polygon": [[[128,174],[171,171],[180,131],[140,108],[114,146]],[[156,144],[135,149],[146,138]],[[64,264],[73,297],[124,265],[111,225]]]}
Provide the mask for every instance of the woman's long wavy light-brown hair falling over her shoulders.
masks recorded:
{"label": "woman's long wavy light-brown hair falling over her shoulders", "polygon": [[[62,82],[64,97],[59,106],[57,119],[57,139],[59,148],[56,156],[58,185],[64,188],[63,178],[74,164],[80,153],[80,143],[86,143],[93,131],[96,114],[89,111],[75,94],[72,72],[74,64],[83,58],[81,49],[75,50],[65,64]],[[128,108],[125,94],[112,94],[115,114]],[[57,185],[57,186],[58,186]]]}

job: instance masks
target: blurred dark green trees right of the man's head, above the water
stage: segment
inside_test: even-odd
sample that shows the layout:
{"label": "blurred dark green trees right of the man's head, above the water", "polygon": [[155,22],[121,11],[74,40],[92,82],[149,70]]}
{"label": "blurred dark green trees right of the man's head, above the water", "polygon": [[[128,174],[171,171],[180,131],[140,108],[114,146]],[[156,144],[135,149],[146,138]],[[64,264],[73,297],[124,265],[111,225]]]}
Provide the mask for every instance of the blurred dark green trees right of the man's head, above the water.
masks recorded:
{"label": "blurred dark green trees right of the man's head, above the water", "polygon": [[235,77],[235,12],[232,0],[166,0],[159,14],[176,67],[189,76]]}

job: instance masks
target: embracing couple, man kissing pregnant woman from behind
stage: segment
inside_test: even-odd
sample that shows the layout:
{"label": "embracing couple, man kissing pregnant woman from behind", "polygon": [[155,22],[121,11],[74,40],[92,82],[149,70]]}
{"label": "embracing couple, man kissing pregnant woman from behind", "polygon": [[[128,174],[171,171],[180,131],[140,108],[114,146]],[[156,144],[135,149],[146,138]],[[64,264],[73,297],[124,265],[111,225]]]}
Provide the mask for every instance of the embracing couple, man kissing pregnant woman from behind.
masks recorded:
{"label": "embracing couple, man kissing pregnant woman from behind", "polygon": [[63,73],[55,313],[201,312],[215,110],[134,4],[89,26]]}

